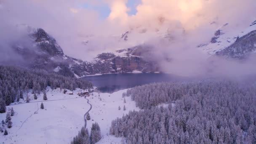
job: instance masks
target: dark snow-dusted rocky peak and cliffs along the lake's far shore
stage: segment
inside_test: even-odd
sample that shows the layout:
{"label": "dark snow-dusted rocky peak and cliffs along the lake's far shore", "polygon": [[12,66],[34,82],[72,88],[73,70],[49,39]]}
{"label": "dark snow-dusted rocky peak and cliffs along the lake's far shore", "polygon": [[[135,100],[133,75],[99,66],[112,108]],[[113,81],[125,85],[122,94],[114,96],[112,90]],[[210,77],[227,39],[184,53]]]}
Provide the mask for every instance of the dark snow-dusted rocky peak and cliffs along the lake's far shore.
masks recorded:
{"label": "dark snow-dusted rocky peak and cliffs along the lake's far shore", "polygon": [[32,45],[15,45],[13,48],[26,62],[24,67],[45,69],[69,77],[105,73],[125,73],[141,71],[156,72],[158,68],[153,62],[145,61],[141,56],[141,48],[134,47],[113,53],[101,53],[93,61],[82,61],[66,56],[56,40],[43,29],[29,34]]}

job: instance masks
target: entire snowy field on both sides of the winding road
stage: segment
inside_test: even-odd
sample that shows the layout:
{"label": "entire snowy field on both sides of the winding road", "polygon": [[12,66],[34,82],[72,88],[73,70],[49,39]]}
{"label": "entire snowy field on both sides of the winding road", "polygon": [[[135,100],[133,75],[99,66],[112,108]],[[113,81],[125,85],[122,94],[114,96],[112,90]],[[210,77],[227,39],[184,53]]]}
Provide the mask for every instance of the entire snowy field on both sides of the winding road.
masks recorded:
{"label": "entire snowy field on both sides of the winding road", "polygon": [[[33,100],[32,94],[29,94],[32,99],[30,103],[7,106],[7,109],[13,107],[15,111],[15,115],[11,117],[13,127],[7,128],[7,136],[0,133],[0,144],[69,144],[84,125],[83,116],[90,108],[87,100],[77,95],[79,91],[77,89],[74,95],[69,95],[59,89],[48,89],[48,101],[43,102],[45,109],[40,109],[41,102],[36,102],[43,101],[43,94],[38,96],[37,100]],[[91,120],[87,121],[87,128],[90,132],[91,125],[95,122],[99,123],[101,128],[102,139],[97,144],[121,144],[122,138],[109,136],[111,121],[122,117],[129,110],[139,110],[130,97],[125,97],[124,104],[122,93],[125,91],[111,94],[94,92],[93,96],[87,97],[92,104],[89,112]],[[121,110],[118,110],[118,106]],[[5,116],[6,112],[0,114],[0,121],[5,120]]]}

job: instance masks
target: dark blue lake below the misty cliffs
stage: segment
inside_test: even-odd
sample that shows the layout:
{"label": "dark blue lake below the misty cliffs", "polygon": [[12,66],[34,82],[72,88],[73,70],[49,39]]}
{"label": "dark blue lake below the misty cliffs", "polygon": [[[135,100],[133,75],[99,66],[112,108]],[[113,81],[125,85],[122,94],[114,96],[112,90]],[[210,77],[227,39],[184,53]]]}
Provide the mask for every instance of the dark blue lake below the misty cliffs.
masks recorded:
{"label": "dark blue lake below the misty cliffs", "polygon": [[125,73],[125,74],[106,74],[83,77],[82,79],[91,81],[100,92],[112,93],[114,91],[133,88],[138,85],[144,85],[156,82],[168,82],[177,80],[177,77],[169,74],[156,73]]}

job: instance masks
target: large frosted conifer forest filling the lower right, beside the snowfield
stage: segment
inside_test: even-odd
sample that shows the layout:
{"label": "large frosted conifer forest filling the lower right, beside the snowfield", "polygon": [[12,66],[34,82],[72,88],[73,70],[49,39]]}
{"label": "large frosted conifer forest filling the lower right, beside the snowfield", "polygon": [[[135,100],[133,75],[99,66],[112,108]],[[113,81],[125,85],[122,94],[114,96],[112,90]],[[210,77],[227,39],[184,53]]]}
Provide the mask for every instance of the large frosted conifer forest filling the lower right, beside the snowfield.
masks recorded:
{"label": "large frosted conifer forest filling the lower right, beside the snowfield", "polygon": [[[142,110],[112,121],[127,144],[255,144],[256,85],[229,80],[154,83],[127,91]],[[159,104],[168,107],[158,107]]]}

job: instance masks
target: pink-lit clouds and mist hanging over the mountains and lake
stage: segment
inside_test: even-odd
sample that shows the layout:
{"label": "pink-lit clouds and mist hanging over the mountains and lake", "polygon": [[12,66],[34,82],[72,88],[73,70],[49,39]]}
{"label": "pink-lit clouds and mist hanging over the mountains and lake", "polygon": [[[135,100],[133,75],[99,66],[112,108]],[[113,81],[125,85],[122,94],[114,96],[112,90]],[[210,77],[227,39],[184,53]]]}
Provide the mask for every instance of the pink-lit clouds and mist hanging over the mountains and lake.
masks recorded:
{"label": "pink-lit clouds and mist hanging over the mountains and lake", "polygon": [[[97,11],[83,8],[85,3],[99,7],[107,4],[111,12],[102,19]],[[133,15],[128,14],[131,8],[127,3],[128,0],[2,0],[0,18],[4,21],[0,27],[5,31],[1,37],[16,35],[16,24],[41,27],[56,38],[64,53],[83,60],[147,43],[153,47],[150,58],[159,61],[164,71],[196,75],[211,69],[207,67],[208,56],[196,49],[197,45],[207,43],[223,24],[242,30],[256,19],[255,0],[141,0]],[[126,31],[127,42],[120,40]],[[165,35],[168,38],[163,39]],[[84,45],[82,41],[87,40]],[[220,71],[223,67],[219,67]]]}

